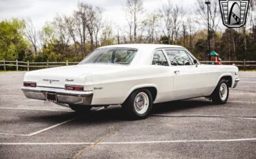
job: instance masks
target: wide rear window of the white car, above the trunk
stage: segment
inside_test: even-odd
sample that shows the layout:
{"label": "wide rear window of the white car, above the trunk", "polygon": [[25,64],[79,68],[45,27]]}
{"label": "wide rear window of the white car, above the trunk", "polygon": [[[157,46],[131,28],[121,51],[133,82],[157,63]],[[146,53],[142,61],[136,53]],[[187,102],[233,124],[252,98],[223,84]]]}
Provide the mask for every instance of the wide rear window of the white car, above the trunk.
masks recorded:
{"label": "wide rear window of the white car, above the trunk", "polygon": [[131,48],[102,48],[93,51],[79,64],[122,64],[128,65],[137,50]]}

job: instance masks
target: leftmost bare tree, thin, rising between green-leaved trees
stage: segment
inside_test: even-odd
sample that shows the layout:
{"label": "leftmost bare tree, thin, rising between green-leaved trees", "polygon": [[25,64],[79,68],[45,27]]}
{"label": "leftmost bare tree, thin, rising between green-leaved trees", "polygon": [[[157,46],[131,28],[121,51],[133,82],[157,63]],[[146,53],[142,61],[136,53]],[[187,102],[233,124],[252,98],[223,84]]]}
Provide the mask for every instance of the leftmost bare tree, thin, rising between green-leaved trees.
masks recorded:
{"label": "leftmost bare tree, thin, rising between green-leaved trees", "polygon": [[28,41],[33,45],[35,55],[37,55],[37,32],[35,26],[33,25],[31,19],[25,21],[26,24],[26,37]]}

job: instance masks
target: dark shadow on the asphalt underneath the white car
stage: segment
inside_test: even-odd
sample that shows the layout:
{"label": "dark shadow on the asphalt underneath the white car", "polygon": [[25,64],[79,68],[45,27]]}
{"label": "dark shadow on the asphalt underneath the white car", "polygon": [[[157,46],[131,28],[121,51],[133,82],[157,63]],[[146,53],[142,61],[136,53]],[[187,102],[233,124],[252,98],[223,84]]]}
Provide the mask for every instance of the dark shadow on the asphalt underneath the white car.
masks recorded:
{"label": "dark shadow on the asphalt underneath the white car", "polygon": [[[203,106],[210,106],[212,102],[202,100],[181,100],[175,102],[165,102],[161,104],[154,104],[151,114],[172,114],[176,111],[183,111],[186,109],[193,109]],[[64,122],[77,118],[75,123],[85,124],[88,123],[109,123],[109,122],[122,122],[127,121],[122,112],[121,106],[110,106],[108,109],[102,109],[100,111],[90,111],[89,113],[76,113],[74,112],[51,112],[37,115],[28,115],[26,120],[34,120],[38,122]]]}

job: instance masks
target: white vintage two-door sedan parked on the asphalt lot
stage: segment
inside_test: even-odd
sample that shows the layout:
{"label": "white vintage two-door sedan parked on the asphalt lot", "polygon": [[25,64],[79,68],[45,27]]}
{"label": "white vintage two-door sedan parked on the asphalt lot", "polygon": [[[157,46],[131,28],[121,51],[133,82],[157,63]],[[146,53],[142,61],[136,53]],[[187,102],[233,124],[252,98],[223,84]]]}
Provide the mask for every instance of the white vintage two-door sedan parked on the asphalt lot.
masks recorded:
{"label": "white vintage two-door sedan parked on the asphalt lot", "polygon": [[78,112],[121,104],[130,117],[145,118],[160,102],[208,97],[225,104],[238,71],[200,64],[182,46],[125,44],[98,48],[76,66],[27,72],[21,89]]}

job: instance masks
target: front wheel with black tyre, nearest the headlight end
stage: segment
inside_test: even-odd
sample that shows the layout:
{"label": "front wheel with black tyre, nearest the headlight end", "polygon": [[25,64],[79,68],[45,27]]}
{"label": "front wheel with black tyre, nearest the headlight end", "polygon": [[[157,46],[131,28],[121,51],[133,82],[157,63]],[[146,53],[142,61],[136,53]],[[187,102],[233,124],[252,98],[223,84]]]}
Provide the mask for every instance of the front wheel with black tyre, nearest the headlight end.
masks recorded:
{"label": "front wheel with black tyre, nearest the headlight end", "polygon": [[212,93],[212,102],[214,104],[226,104],[228,101],[228,95],[228,81],[226,79],[221,79]]}

